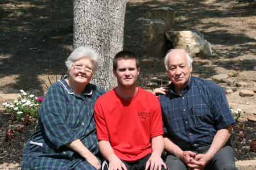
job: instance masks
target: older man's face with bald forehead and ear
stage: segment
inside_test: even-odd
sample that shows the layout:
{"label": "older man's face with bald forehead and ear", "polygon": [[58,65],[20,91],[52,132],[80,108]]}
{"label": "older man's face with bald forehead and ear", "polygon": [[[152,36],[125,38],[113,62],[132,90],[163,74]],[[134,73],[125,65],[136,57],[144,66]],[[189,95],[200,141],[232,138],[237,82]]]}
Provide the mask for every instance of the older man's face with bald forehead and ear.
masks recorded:
{"label": "older man's face with bald forehead and ear", "polygon": [[189,67],[185,52],[174,50],[168,56],[167,74],[178,88],[182,89],[189,81],[192,65]]}

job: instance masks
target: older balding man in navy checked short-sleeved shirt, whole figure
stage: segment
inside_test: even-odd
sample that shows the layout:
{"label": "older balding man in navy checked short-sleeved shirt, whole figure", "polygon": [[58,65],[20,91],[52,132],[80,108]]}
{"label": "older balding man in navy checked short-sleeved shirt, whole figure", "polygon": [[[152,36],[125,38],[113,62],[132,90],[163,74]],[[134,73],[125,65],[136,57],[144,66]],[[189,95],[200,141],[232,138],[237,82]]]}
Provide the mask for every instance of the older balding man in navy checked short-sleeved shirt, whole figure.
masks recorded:
{"label": "older balding man in navy checked short-sleeved shirt, whole figure", "polygon": [[191,75],[192,58],[182,49],[164,59],[172,83],[155,90],[163,114],[169,169],[237,169],[230,142],[232,124],[225,93],[216,83]]}

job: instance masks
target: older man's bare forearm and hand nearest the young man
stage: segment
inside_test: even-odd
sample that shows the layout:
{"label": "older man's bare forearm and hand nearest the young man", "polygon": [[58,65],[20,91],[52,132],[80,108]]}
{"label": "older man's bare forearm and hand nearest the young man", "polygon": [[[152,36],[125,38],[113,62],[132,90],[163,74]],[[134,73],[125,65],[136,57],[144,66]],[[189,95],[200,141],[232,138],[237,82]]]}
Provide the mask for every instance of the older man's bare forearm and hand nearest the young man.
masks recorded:
{"label": "older man's bare forearm and hand nearest the young man", "polygon": [[164,150],[166,150],[171,155],[176,156],[186,165],[191,163],[191,158],[195,157],[196,154],[191,151],[183,151],[179,146],[177,146],[174,142],[164,136]]}

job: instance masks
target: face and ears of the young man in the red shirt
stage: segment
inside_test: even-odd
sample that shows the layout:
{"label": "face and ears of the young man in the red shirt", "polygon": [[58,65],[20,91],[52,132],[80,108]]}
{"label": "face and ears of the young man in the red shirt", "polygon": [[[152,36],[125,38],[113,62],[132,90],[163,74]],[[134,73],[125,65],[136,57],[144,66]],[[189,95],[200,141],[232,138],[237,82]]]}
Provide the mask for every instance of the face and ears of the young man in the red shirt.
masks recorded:
{"label": "face and ears of the young man in the red shirt", "polygon": [[113,73],[117,77],[118,86],[129,88],[136,86],[139,68],[137,69],[134,59],[121,59],[117,62],[117,70],[113,69]]}

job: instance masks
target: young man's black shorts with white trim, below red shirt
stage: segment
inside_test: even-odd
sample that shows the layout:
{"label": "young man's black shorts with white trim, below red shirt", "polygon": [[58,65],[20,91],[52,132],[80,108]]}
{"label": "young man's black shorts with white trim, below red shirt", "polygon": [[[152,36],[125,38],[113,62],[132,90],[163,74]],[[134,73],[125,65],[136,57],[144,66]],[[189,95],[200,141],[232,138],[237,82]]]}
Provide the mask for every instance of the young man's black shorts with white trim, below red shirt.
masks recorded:
{"label": "young man's black shorts with white trim, below red shirt", "polygon": [[[125,162],[125,160],[122,160],[122,159],[120,159],[120,160],[122,161],[123,164],[125,164],[125,167],[127,168],[127,170],[144,170],[146,167],[146,163],[147,163],[148,159],[150,158],[150,156],[151,156],[151,154],[147,154],[143,158],[141,158],[133,163],[127,163],[127,162]],[[101,170],[108,170],[108,169],[109,169],[109,161],[104,160],[104,162],[102,163],[102,166],[101,166]],[[121,170],[121,169],[119,169],[119,170]],[[162,165],[162,170],[166,170],[166,169],[164,169],[163,165]]]}

